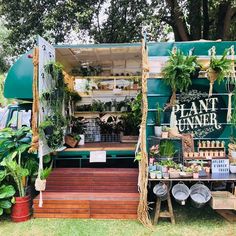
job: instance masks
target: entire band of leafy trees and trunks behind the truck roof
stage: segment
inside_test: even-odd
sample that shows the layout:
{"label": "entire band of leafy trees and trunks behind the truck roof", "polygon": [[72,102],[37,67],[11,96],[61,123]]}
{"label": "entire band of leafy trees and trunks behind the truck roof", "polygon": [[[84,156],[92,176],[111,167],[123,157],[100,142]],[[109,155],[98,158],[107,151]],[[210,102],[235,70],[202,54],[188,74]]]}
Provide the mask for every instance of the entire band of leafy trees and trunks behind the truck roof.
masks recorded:
{"label": "entire band of leafy trees and trunks behind the truck roof", "polygon": [[[21,53],[39,34],[51,43],[71,35],[96,43],[141,40],[148,25],[149,40],[176,41],[236,38],[235,0],[0,0],[0,13],[10,33],[5,45]],[[72,34],[73,33],[73,34]]]}

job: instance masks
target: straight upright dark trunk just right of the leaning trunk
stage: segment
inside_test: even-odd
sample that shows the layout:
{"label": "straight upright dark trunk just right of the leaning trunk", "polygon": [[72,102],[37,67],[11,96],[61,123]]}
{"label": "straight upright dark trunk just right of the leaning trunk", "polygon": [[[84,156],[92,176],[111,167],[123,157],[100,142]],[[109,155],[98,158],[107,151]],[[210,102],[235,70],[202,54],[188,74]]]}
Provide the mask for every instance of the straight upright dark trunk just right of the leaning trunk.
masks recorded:
{"label": "straight upright dark trunk just right of the leaning trunk", "polygon": [[188,22],[190,24],[190,38],[191,40],[198,40],[201,38],[201,7],[202,0],[191,0],[189,3]]}

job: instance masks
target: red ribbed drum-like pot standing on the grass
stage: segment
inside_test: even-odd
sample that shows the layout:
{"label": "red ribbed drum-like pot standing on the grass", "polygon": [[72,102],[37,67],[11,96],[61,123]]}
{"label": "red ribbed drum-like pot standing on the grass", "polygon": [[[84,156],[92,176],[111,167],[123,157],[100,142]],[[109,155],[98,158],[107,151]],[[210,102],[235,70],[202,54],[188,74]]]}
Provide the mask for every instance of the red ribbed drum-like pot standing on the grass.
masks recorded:
{"label": "red ribbed drum-like pot standing on the grass", "polygon": [[13,222],[23,222],[30,219],[30,196],[15,197],[15,204],[11,209]]}

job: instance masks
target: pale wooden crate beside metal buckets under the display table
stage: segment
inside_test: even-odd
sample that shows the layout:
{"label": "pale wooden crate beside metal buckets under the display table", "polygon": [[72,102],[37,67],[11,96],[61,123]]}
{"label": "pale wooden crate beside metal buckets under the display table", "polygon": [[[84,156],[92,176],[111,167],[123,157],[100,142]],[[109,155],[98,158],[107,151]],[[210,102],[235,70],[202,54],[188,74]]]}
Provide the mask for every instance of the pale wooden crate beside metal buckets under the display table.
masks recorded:
{"label": "pale wooden crate beside metal buckets under the display table", "polygon": [[236,210],[236,196],[227,191],[212,191],[210,206],[213,209]]}

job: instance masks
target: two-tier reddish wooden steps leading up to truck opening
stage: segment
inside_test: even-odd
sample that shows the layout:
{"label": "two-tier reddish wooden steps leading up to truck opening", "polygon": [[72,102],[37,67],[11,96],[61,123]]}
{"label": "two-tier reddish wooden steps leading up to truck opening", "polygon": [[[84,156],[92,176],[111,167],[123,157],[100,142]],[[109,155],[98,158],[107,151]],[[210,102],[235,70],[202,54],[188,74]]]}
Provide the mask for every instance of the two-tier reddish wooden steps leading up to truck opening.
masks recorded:
{"label": "two-tier reddish wooden steps leading up to truck opening", "polygon": [[47,180],[35,218],[136,219],[138,170],[58,168]]}

